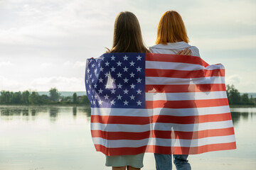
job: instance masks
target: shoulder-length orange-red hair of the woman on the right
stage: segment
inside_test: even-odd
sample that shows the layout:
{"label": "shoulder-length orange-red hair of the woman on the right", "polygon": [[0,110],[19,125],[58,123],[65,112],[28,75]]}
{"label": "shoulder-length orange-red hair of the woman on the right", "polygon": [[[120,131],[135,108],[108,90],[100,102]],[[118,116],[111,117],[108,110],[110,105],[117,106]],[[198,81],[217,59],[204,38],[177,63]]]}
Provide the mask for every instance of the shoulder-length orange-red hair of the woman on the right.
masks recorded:
{"label": "shoulder-length orange-red hair of the woman on the right", "polygon": [[189,42],[183,20],[176,11],[166,11],[159,21],[156,44]]}

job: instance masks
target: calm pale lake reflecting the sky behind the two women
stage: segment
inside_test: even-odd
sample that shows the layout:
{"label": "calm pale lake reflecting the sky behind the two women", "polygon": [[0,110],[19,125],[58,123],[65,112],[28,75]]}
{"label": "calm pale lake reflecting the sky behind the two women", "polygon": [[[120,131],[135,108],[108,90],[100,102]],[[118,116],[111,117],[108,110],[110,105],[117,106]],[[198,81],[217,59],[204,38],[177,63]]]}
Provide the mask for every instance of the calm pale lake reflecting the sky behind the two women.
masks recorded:
{"label": "calm pale lake reflecting the sky behind the two women", "polygon": [[[231,112],[238,149],[190,155],[192,169],[256,169],[256,108]],[[0,113],[1,170],[111,169],[92,144],[90,108],[0,106]],[[153,154],[143,169],[155,169]]]}

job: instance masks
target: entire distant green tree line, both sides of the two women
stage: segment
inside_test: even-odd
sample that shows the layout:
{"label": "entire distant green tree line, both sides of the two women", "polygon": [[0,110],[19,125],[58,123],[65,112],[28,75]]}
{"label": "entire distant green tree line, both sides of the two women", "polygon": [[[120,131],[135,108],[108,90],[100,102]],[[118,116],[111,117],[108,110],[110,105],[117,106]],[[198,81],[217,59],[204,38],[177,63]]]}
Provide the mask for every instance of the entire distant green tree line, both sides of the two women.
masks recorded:
{"label": "entire distant green tree line, both sides of the two women", "polygon": [[[240,95],[238,89],[235,89],[234,85],[227,85],[228,102],[230,105],[243,104],[243,105],[254,105],[255,99],[248,94]],[[46,94],[39,95],[36,91],[1,91],[0,95],[1,104],[51,104],[51,103],[62,103],[62,104],[85,104],[90,105],[87,96],[78,96],[76,93],[73,96],[60,96],[58,89],[52,88],[49,90],[49,96]]]}

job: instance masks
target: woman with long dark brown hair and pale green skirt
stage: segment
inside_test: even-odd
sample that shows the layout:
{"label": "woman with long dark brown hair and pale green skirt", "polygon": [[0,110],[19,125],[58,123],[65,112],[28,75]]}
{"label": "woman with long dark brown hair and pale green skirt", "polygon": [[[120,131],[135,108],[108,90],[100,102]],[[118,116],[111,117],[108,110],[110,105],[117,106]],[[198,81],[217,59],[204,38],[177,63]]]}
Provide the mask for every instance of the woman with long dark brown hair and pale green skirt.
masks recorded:
{"label": "woman with long dark brown hair and pale green skirt", "polygon": [[[149,52],[144,46],[137,17],[128,11],[120,12],[114,22],[113,46],[107,52]],[[113,170],[134,170],[143,167],[143,154],[106,156],[106,166]]]}

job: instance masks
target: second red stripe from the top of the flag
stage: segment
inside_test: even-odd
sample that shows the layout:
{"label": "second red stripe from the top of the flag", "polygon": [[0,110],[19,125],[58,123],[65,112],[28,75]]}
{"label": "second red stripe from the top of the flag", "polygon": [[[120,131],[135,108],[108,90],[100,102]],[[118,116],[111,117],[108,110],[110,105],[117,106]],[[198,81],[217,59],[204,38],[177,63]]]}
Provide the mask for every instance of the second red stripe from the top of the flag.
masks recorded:
{"label": "second red stripe from the top of the flag", "polygon": [[199,69],[199,70],[176,70],[176,69],[146,69],[146,77],[172,77],[172,78],[201,78],[201,77],[224,77],[225,69]]}

